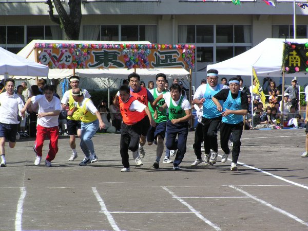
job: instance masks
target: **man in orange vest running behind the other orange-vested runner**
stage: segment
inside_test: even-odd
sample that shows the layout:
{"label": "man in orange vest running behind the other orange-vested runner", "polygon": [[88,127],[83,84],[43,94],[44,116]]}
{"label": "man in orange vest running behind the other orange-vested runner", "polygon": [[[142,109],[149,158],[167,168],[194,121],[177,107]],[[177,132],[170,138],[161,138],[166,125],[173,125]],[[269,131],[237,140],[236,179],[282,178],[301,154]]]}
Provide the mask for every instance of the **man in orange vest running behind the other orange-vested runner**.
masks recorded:
{"label": "man in orange vest running behind the other orange-vested runner", "polygon": [[[147,88],[140,86],[140,76],[136,73],[131,73],[128,76],[129,86],[130,86],[130,95],[135,97],[139,102],[143,103],[144,105],[152,105],[152,102],[154,101],[154,98],[152,94],[147,90]],[[114,98],[114,102],[119,98],[120,92],[117,93],[117,96]],[[136,152],[132,153],[133,158],[135,159],[135,162],[138,166],[143,165],[143,162],[141,161],[141,158],[145,156],[145,151],[143,149],[143,146],[145,145],[146,140],[146,134],[147,131],[150,128],[150,122],[147,114],[144,113],[144,118],[142,120],[143,126],[141,126],[141,136],[140,136],[140,142],[139,147]]]}

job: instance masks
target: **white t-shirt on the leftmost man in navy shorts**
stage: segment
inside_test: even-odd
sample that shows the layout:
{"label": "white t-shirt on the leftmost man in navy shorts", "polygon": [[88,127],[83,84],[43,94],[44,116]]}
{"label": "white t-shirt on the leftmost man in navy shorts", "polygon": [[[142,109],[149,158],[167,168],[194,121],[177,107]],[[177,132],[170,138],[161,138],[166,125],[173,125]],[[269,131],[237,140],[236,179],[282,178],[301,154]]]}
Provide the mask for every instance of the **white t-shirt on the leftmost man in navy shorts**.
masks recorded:
{"label": "white t-shirt on the leftmost man in navy shorts", "polygon": [[24,107],[24,102],[17,95],[8,95],[7,92],[0,94],[0,122],[16,125],[19,123],[17,120],[18,111]]}

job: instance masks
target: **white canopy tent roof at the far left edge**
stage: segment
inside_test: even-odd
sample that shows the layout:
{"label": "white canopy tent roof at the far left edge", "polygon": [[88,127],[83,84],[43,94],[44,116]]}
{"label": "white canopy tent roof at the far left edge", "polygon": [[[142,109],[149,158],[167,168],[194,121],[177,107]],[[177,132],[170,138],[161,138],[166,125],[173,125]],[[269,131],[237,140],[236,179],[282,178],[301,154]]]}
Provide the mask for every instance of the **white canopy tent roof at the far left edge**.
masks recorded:
{"label": "white canopy tent roof at the far left edge", "polygon": [[0,75],[48,76],[48,66],[15,55],[0,47]]}

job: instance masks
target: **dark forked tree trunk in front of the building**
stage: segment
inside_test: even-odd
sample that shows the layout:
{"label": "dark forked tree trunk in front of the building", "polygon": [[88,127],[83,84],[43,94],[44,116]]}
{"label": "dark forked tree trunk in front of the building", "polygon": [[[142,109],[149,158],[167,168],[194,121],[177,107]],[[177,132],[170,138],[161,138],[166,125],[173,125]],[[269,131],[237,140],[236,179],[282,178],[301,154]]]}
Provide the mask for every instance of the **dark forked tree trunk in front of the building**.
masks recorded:
{"label": "dark forked tree trunk in front of the building", "polygon": [[[82,18],[81,3],[81,0],[69,0],[69,13],[67,13],[62,5],[65,3],[61,2],[61,0],[46,1],[46,4],[49,6],[50,20],[64,29],[66,40],[79,40]],[[55,7],[59,16],[53,14],[53,7]]]}

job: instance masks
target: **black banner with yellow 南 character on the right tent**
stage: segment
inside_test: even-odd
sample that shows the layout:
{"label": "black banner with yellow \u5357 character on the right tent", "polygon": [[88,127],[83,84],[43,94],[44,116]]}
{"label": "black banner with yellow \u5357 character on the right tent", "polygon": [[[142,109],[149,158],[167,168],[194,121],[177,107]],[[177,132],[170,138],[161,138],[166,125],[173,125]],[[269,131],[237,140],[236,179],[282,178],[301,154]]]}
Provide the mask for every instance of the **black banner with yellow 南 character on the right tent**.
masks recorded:
{"label": "black banner with yellow \u5357 character on the right tent", "polygon": [[308,43],[285,42],[282,57],[285,73],[308,72]]}

